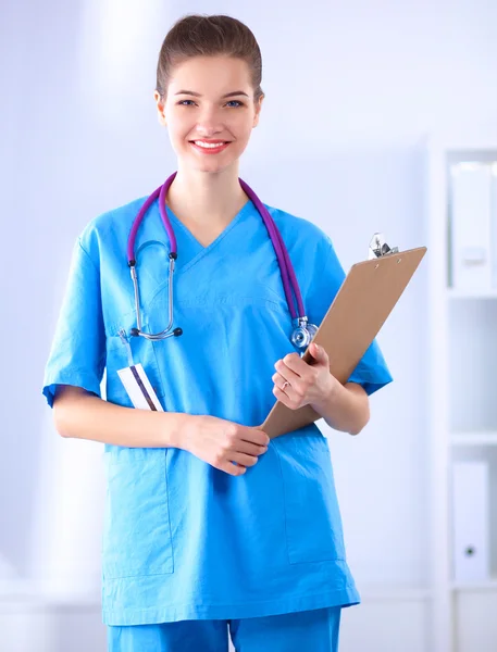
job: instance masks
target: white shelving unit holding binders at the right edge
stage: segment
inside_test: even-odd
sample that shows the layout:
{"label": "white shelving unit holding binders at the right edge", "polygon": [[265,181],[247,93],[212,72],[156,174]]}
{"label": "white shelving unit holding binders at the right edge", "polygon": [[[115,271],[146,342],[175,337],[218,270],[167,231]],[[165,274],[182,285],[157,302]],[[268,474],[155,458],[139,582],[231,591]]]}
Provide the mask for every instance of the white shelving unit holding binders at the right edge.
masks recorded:
{"label": "white shelving unit holding binders at the right edge", "polygon": [[[490,652],[497,650],[497,287],[461,291],[449,286],[449,166],[463,161],[497,162],[497,138],[492,142],[430,139],[426,153],[430,650]],[[489,524],[490,568],[485,581],[456,581],[452,570],[450,478],[457,460],[488,463],[494,523]]]}

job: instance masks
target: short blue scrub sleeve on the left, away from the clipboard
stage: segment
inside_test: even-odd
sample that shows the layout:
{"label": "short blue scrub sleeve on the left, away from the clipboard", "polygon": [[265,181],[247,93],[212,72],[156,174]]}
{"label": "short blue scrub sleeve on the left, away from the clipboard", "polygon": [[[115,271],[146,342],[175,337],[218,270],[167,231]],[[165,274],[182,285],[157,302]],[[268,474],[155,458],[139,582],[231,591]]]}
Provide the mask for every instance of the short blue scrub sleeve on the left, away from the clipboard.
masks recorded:
{"label": "short blue scrub sleeve on the left, away from the clipboard", "polygon": [[100,397],[105,366],[99,268],[78,238],[49,359],[44,390],[50,408],[58,385],[73,385]]}

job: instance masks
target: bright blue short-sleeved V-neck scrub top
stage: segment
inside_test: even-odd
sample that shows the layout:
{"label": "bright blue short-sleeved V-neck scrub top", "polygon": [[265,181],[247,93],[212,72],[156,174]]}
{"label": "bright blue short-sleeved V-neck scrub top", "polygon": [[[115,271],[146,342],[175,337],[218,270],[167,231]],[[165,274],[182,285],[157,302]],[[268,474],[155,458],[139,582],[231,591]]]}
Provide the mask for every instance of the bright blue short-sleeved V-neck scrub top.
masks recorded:
{"label": "bright blue short-sleeved V-neck scrub top", "polygon": [[[132,408],[120,328],[136,326],[126,243],[140,198],[78,237],[44,394],[66,384]],[[344,269],[312,223],[266,206],[319,325]],[[251,201],[202,247],[167,208],[177,238],[174,326],[182,337],[131,338],[165,411],[258,426],[275,402],[274,364],[294,351],[277,260]],[[156,202],[138,231],[142,324],[169,322],[169,240]],[[392,380],[373,342],[350,381],[371,394]],[[347,565],[327,440],[315,424],[273,439],[240,477],[184,450],[104,446],[103,622],[139,625],[246,618],[359,602]]]}

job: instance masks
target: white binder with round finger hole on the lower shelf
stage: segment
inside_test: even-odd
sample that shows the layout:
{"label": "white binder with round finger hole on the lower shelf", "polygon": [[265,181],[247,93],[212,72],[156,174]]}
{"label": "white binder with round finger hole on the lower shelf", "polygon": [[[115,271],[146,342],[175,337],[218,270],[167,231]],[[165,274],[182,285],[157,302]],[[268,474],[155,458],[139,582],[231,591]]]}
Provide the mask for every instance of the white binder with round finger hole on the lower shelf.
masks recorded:
{"label": "white binder with round finger hole on the lower shelf", "polygon": [[452,567],[457,582],[489,578],[488,464],[452,463]]}

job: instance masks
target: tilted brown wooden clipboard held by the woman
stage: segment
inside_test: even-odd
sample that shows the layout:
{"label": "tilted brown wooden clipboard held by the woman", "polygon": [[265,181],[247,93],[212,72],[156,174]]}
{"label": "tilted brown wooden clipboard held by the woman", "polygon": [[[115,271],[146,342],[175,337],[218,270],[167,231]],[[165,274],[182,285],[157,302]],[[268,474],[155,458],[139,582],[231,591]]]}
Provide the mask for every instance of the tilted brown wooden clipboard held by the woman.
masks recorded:
{"label": "tilted brown wooden clipboard held by the woman", "polygon": [[[324,316],[313,342],[330,356],[330,372],[343,385],[380,333],[421,263],[426,247],[356,263]],[[309,350],[302,356],[311,362]],[[310,406],[290,410],[277,401],[259,426],[270,439],[303,428],[321,416]]]}

